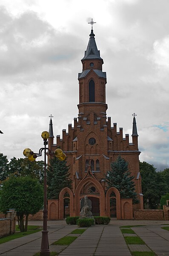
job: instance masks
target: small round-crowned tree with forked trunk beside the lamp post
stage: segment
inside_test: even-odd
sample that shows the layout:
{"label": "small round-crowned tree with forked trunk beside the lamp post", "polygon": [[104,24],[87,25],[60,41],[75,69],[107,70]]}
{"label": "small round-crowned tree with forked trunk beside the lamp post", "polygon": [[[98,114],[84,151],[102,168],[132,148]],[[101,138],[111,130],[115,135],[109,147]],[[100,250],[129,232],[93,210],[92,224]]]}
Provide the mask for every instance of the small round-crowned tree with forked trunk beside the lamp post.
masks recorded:
{"label": "small round-crowned tree with forked trunk beside the lamp post", "polygon": [[[28,215],[43,206],[43,186],[31,177],[10,177],[3,181],[0,191],[0,211],[16,209],[20,231],[27,231]],[[24,227],[23,218],[26,216]]]}

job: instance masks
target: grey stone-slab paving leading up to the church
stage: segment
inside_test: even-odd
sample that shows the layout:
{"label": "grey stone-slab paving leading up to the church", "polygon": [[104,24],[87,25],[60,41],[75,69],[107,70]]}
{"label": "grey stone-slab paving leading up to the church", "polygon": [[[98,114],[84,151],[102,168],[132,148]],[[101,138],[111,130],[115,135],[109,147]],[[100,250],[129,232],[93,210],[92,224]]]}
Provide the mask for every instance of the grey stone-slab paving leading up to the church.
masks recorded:
{"label": "grey stone-slab paving leading up to the church", "polygon": [[[68,247],[61,247],[64,250],[59,256],[131,256],[131,248],[137,250],[143,246],[132,246],[129,250],[119,228],[125,225],[147,225],[132,227],[132,230],[158,256],[169,256],[169,231],[161,229],[164,224],[169,224],[169,221],[111,221],[109,225],[89,227]],[[29,221],[29,225],[42,225],[42,221]],[[48,226],[49,244],[78,228],[66,225],[65,221],[48,221]],[[0,244],[0,256],[33,256],[40,250],[40,245],[41,232],[37,232]],[[50,245],[50,251],[59,249]]]}

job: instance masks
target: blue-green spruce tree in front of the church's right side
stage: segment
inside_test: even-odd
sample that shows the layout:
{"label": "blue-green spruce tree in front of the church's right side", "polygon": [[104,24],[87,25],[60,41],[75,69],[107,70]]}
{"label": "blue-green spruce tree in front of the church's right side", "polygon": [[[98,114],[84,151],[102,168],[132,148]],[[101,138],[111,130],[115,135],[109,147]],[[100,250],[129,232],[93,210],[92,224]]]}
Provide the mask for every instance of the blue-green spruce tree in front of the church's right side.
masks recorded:
{"label": "blue-green spruce tree in front of the church's right side", "polygon": [[121,198],[132,198],[133,203],[139,203],[135,192],[134,176],[131,176],[128,163],[119,156],[116,162],[111,163],[111,169],[106,176],[107,189],[117,188]]}

